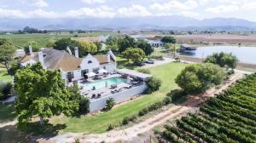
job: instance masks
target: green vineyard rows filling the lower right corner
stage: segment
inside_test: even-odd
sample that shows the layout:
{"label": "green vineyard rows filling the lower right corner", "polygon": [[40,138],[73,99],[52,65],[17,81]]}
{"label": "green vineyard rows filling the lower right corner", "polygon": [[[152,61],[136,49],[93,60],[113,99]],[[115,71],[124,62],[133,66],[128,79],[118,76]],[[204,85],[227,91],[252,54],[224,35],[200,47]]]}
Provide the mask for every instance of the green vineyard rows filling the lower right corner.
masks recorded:
{"label": "green vineyard rows filling the lower right corner", "polygon": [[166,125],[172,142],[256,142],[256,74],[238,81],[217,97]]}

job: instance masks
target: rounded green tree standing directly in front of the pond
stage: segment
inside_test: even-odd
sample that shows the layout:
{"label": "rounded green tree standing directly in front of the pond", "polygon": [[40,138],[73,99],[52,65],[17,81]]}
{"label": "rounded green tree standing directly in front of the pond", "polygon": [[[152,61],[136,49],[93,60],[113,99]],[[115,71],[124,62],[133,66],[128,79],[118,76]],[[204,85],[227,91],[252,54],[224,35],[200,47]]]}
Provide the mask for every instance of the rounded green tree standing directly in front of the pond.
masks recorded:
{"label": "rounded green tree standing directly in front of the pond", "polygon": [[236,58],[236,55],[225,54],[224,52],[220,52],[208,56],[204,62],[216,64],[220,67],[228,67],[231,69],[235,69],[237,61],[238,59]]}

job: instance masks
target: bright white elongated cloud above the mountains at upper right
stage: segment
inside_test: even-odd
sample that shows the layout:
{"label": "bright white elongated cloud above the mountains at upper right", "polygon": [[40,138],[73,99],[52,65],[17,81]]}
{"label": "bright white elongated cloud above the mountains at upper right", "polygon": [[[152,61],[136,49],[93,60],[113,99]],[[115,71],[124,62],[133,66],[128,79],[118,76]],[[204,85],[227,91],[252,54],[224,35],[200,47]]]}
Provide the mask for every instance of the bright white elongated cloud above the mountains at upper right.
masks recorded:
{"label": "bright white elongated cloud above the mountains at upper right", "polygon": [[229,13],[239,10],[239,7],[236,5],[218,5],[217,7],[207,8],[206,11],[214,14],[220,13]]}

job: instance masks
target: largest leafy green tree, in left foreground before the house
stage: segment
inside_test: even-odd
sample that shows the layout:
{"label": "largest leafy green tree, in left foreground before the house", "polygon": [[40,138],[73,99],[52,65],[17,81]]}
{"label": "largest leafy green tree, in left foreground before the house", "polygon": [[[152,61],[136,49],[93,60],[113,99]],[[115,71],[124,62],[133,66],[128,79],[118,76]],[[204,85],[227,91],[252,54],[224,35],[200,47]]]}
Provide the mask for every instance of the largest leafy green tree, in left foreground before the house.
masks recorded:
{"label": "largest leafy green tree, in left foreground before the house", "polygon": [[44,70],[40,63],[18,70],[15,81],[19,124],[29,122],[32,117],[40,117],[40,123],[44,124],[45,117],[61,113],[70,116],[79,109],[78,101],[72,100],[65,89],[61,73]]}

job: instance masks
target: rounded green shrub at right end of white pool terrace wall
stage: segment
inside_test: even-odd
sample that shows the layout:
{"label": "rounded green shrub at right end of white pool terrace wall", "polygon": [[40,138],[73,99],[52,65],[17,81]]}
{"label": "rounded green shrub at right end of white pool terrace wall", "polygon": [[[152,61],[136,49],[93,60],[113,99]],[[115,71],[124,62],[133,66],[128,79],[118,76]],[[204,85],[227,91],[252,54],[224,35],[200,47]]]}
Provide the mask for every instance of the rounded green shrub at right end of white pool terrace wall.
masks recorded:
{"label": "rounded green shrub at right end of white pool terrace wall", "polygon": [[147,93],[150,94],[154,91],[157,91],[160,89],[161,86],[161,80],[157,77],[149,77],[148,81],[146,81],[146,84],[148,86]]}

